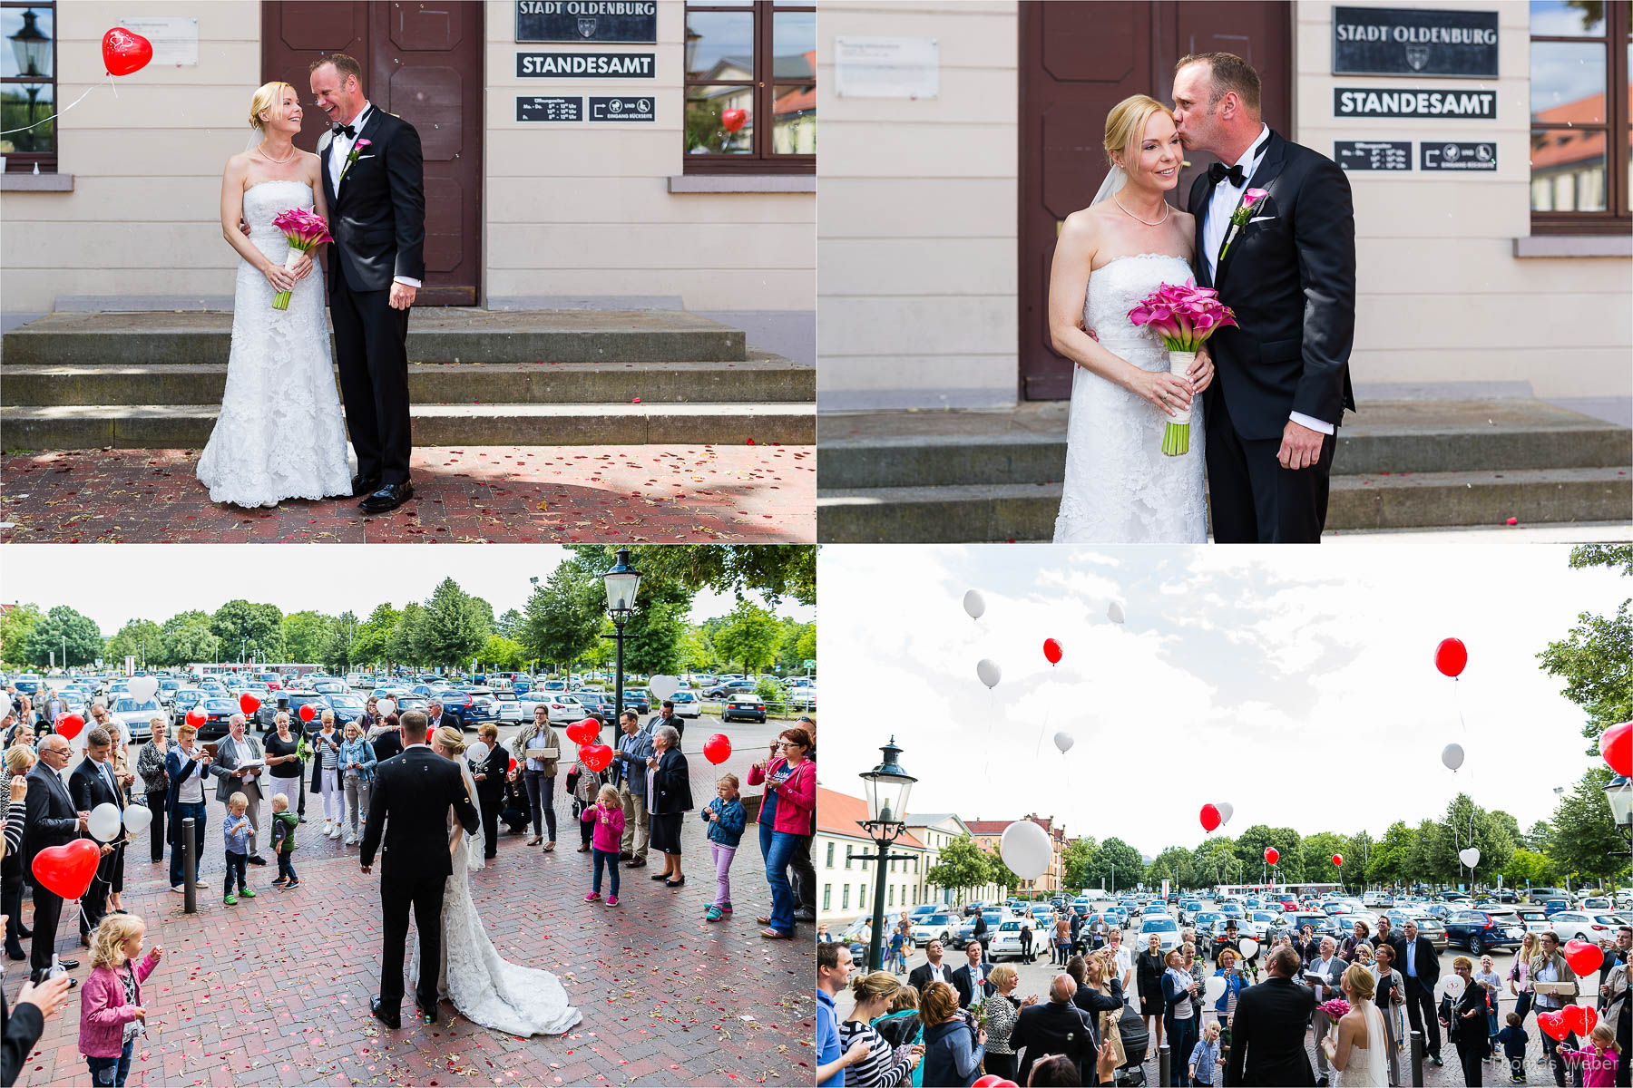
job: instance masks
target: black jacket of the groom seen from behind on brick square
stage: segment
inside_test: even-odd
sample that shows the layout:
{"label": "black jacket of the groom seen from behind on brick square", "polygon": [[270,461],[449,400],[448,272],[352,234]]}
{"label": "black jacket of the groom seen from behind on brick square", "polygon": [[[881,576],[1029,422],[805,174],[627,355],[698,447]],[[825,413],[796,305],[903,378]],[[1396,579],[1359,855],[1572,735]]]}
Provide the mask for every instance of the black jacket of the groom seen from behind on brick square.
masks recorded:
{"label": "black jacket of the groom seen from behind on brick square", "polygon": [[447,853],[447,809],[467,832],[480,827],[477,806],[465,793],[459,763],[428,747],[415,745],[374,768],[369,794],[369,827],[363,834],[363,865],[374,865],[380,850],[380,876],[418,879],[454,871]]}

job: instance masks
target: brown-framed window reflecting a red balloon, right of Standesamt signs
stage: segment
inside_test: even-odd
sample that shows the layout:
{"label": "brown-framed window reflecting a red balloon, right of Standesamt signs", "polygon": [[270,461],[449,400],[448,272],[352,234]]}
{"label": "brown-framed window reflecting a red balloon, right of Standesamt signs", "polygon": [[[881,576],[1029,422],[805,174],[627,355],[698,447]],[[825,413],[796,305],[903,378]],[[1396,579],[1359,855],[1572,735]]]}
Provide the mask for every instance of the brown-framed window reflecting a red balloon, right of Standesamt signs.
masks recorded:
{"label": "brown-framed window reflecting a red balloon, right of Standesamt signs", "polygon": [[816,173],[813,0],[686,5],[686,173],[738,170]]}

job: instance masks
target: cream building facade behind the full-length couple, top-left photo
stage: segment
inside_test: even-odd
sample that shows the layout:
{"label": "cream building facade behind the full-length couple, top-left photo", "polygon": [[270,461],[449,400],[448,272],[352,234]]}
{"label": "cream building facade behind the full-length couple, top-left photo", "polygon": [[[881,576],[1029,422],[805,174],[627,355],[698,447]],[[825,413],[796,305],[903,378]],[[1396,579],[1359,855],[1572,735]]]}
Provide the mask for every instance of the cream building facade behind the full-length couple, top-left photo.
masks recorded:
{"label": "cream building facade behind the full-length couple, top-left photo", "polygon": [[[5,310],[230,307],[220,175],[248,145],[250,96],[289,82],[305,106],[297,147],[314,150],[327,117],[307,65],[346,52],[369,100],[420,130],[421,303],[808,325],[815,10],[696,7],[8,2],[0,127],[69,109],[0,135]],[[100,42],[121,23],[155,57],[114,95]]]}

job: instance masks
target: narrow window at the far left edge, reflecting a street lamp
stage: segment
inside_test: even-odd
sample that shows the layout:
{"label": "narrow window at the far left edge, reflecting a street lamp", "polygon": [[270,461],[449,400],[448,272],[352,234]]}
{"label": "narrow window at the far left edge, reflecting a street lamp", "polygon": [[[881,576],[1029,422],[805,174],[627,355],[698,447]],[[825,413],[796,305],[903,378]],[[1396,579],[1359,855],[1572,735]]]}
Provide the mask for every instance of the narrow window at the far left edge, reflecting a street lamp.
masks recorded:
{"label": "narrow window at the far left edge, reflecting a street lamp", "polygon": [[[57,173],[57,5],[0,3],[0,155],[7,173]],[[13,132],[13,129],[21,129]]]}

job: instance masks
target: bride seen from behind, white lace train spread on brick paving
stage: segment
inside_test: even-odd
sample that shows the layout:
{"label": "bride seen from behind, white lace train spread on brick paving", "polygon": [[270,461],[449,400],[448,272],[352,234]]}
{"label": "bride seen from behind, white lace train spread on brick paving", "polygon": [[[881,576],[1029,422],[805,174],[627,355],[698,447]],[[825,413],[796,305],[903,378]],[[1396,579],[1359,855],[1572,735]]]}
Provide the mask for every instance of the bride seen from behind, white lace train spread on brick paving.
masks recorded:
{"label": "bride seen from behind, white lace train spread on brick paving", "polygon": [[[477,785],[465,765],[465,739],[457,729],[443,726],[431,734],[431,750],[459,763],[465,789],[475,803]],[[480,809],[480,806],[477,806]],[[501,959],[482,927],[477,904],[470,897],[470,869],[482,868],[482,829],[464,834],[449,817],[449,851],[454,874],[443,894],[443,969],[438,995],[454,1003],[467,1019],[483,1028],[513,1036],[557,1036],[580,1021],[578,1010],[567,1003],[567,990],[549,971],[519,967]],[[415,931],[408,977],[420,975],[420,935]]]}

